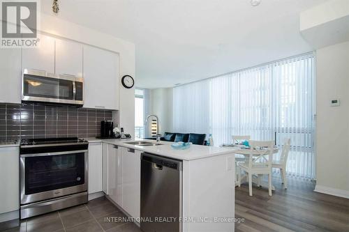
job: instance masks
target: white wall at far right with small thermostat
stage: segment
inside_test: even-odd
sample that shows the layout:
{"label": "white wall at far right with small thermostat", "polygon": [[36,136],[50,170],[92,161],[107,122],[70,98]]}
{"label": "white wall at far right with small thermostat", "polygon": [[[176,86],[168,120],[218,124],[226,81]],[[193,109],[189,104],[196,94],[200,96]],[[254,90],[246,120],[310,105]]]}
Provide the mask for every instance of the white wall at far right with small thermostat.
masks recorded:
{"label": "white wall at far right with small thermostat", "polygon": [[316,108],[315,191],[349,198],[349,42],[316,51]]}

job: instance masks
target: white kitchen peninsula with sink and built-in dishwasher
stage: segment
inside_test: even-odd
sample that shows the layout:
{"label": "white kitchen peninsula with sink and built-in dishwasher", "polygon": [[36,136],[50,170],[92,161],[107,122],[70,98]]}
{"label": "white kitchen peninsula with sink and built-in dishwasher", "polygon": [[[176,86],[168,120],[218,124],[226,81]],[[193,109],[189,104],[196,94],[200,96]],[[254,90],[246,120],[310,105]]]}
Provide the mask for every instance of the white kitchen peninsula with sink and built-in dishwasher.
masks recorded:
{"label": "white kitchen peninsula with sink and built-in dishwasher", "polygon": [[[234,231],[235,161],[232,150],[199,145],[191,145],[186,150],[174,150],[170,142],[161,141],[161,145],[156,145],[155,141],[147,139],[87,140],[90,159],[94,159],[99,150],[103,153],[103,192],[126,214],[134,217],[136,222],[148,215],[170,217],[172,212],[176,212],[174,206],[177,204],[182,222],[179,223],[181,231]],[[148,170],[150,173],[147,173],[149,157],[154,163],[151,170]],[[156,160],[165,161],[159,163]],[[147,176],[159,170],[165,171],[166,166],[172,167],[171,160],[174,161],[173,164],[180,164],[178,191],[161,196],[166,188],[173,187],[173,180],[167,178],[174,178],[174,174],[150,178]],[[89,162],[90,176],[96,177],[94,169],[97,163]],[[158,182],[147,183],[147,186],[141,183],[149,179],[156,179]],[[91,182],[94,180],[89,180],[90,194],[98,189],[98,186],[95,187],[98,181]],[[153,186],[151,190],[149,185]],[[160,191],[160,196],[156,198],[155,204],[165,199],[164,207],[152,205],[151,208],[170,207],[170,210],[158,214],[156,210],[147,210],[151,199],[146,199],[147,203],[142,202],[142,199],[147,197],[147,192],[155,194],[156,191]],[[174,202],[177,198],[172,194],[178,194],[179,201]],[[142,222],[140,224],[142,228]]]}

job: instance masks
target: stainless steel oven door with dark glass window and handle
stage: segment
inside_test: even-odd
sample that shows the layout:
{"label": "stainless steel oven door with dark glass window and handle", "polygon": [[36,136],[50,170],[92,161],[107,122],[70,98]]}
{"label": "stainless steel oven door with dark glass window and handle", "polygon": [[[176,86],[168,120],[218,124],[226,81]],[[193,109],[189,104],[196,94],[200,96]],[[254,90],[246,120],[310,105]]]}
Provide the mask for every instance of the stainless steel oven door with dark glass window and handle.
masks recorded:
{"label": "stainless steel oven door with dark glass window and handle", "polygon": [[88,150],[20,155],[21,204],[87,191]]}

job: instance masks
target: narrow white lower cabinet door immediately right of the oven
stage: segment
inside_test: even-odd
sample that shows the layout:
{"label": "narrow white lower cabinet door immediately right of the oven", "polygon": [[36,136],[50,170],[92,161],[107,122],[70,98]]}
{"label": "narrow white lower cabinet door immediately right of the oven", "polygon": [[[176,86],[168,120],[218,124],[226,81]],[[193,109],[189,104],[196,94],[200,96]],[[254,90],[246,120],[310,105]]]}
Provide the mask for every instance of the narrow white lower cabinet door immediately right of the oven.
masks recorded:
{"label": "narrow white lower cabinet door immediately right of the oven", "polygon": [[102,191],[102,143],[89,144],[89,194]]}

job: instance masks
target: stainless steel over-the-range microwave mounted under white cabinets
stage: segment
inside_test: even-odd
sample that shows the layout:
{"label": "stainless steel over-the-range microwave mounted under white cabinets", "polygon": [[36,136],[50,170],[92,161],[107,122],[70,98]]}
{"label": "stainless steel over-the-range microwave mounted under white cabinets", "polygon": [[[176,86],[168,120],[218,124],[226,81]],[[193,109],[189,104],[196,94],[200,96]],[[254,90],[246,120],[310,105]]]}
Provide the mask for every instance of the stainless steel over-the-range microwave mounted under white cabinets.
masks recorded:
{"label": "stainless steel over-the-range microwave mounted under white cabinets", "polygon": [[84,80],[73,75],[56,75],[24,69],[22,102],[84,105]]}

